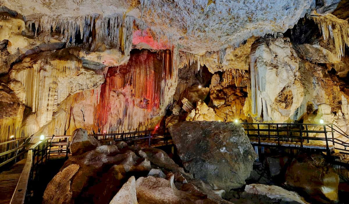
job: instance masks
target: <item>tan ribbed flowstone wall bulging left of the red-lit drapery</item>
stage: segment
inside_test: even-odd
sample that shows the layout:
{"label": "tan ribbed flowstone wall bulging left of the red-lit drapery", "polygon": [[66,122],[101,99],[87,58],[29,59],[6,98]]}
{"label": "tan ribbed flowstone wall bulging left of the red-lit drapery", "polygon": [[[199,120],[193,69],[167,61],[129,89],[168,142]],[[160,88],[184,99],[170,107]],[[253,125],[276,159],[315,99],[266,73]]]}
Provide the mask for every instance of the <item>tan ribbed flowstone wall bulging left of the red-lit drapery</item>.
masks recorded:
{"label": "tan ribbed flowstone wall bulging left of the red-lit drapery", "polygon": [[73,50],[30,55],[13,66],[9,87],[35,112],[39,126],[70,94],[96,88],[104,76],[82,67]]}

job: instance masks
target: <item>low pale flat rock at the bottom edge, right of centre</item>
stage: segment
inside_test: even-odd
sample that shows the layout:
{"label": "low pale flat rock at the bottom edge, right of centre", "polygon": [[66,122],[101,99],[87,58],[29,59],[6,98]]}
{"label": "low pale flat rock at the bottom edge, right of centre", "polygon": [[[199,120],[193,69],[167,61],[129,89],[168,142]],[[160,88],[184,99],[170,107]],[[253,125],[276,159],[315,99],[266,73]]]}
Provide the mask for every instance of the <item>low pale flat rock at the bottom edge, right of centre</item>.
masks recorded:
{"label": "low pale flat rock at the bottom edge, right of centre", "polygon": [[264,184],[246,185],[242,197],[252,199],[255,203],[308,204],[295,192]]}

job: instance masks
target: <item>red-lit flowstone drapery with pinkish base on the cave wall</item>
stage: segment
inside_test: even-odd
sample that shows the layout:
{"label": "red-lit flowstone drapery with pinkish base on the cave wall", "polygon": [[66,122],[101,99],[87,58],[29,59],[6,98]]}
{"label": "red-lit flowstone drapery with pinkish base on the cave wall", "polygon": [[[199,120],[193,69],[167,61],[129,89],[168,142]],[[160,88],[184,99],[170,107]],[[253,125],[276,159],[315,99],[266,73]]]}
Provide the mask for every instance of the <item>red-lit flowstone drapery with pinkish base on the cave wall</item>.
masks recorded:
{"label": "red-lit flowstone drapery with pinkish base on the cave wall", "polygon": [[[160,106],[168,105],[174,92],[171,86],[177,82],[177,72],[173,62],[170,50],[141,50],[131,54],[127,64],[109,67],[96,107],[96,126],[109,132],[113,127],[121,131],[149,122]],[[117,124],[113,118],[118,118]]]}

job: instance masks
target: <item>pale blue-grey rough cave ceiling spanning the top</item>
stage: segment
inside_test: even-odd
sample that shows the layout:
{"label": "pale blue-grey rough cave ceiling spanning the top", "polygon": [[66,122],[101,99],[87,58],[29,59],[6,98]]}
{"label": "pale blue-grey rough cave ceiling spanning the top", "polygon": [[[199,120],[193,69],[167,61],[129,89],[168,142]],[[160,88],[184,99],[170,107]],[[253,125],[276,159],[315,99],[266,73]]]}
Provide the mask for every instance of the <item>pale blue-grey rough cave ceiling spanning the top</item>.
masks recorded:
{"label": "pale blue-grey rough cave ceiling spanning the top", "polygon": [[[2,2],[2,5],[28,18],[38,14],[60,15],[65,18],[75,18],[75,22],[80,25],[82,23],[76,17],[85,19],[84,17],[90,14],[107,16],[124,13],[124,18],[132,16],[135,21],[143,21],[146,24],[145,27],[149,27],[156,34],[157,39],[168,39],[172,44],[178,43],[181,50],[195,54],[204,54],[207,50],[221,50],[228,45],[237,47],[252,35],[262,36],[267,33],[285,32],[310,9],[319,7],[315,0],[276,2],[270,0],[44,0],[36,2],[3,0]],[[329,6],[333,2],[337,3],[336,0],[329,0],[320,6]],[[59,17],[48,18],[51,18],[51,21],[59,20]]]}

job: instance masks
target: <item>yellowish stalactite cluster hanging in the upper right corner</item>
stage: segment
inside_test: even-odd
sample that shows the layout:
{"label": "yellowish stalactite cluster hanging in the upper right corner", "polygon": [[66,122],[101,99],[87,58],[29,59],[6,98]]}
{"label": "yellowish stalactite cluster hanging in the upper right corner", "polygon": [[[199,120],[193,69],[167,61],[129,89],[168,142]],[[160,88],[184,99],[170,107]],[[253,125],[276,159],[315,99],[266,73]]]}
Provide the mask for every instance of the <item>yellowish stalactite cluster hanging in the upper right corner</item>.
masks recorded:
{"label": "yellowish stalactite cluster hanging in the upper right corner", "polygon": [[344,48],[349,46],[349,24],[348,21],[339,19],[332,14],[320,15],[313,11],[311,15],[321,27],[324,40],[332,38],[338,58],[344,57]]}

